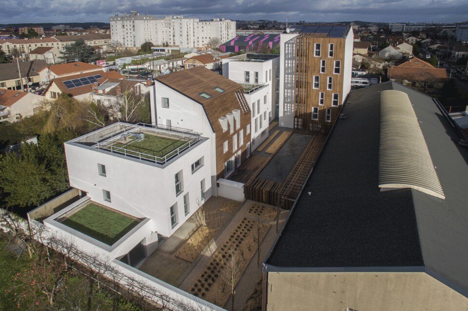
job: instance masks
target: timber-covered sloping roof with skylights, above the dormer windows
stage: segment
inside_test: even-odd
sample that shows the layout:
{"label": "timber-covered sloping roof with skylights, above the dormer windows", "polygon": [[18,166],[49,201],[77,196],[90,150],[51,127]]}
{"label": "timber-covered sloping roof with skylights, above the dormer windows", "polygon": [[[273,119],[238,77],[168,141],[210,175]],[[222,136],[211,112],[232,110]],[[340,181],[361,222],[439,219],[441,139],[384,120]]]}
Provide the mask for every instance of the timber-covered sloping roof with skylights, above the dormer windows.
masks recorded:
{"label": "timber-covered sloping roof with skylights, above the dormer windows", "polygon": [[[240,109],[242,111],[235,95],[237,91],[243,93],[242,86],[204,67],[195,67],[158,76],[156,82],[160,82],[202,105],[215,131],[218,127],[220,129],[219,117],[232,112],[232,110]],[[224,92],[215,91],[215,87],[223,89]],[[200,96],[202,92],[206,92],[212,97],[204,98]]]}

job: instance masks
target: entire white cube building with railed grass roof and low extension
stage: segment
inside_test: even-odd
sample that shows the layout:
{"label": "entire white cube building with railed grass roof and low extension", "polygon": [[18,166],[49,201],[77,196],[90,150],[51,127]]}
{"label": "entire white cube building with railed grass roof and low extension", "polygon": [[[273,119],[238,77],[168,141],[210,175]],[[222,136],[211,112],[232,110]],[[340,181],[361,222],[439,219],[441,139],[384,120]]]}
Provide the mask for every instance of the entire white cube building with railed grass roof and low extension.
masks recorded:
{"label": "entire white cube building with railed grass roof and low extension", "polygon": [[[126,123],[68,141],[70,185],[82,198],[44,224],[88,253],[135,266],[211,196],[209,144],[191,130]],[[111,235],[76,218],[96,210],[106,219],[94,223],[128,224]]]}

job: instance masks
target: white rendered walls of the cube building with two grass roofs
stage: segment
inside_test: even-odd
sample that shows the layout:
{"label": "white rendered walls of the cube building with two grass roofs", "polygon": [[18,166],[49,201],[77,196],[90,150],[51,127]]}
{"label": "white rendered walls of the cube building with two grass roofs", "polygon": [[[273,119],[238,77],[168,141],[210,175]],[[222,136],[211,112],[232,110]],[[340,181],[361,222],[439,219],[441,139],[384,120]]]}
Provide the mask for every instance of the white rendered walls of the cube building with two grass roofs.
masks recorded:
{"label": "white rendered walls of the cube building with two grass roofs", "polygon": [[[190,143],[179,147],[169,158],[138,156],[129,149],[111,148],[109,142],[118,141],[123,134],[137,132],[144,132],[146,138],[149,135],[184,136]],[[208,165],[211,154],[207,146],[210,141],[198,133],[187,133],[187,130],[179,128],[168,130],[119,122],[66,142],[70,185],[86,196],[59,213],[89,200],[142,221],[113,245],[105,245],[78,231],[64,228],[66,226],[56,220],[60,217],[57,214],[44,223],[60,235],[69,235],[88,252],[117,258],[141,242],[148,256],[157,248],[158,236],[170,237],[211,197]],[[194,166],[195,163],[198,165]]]}

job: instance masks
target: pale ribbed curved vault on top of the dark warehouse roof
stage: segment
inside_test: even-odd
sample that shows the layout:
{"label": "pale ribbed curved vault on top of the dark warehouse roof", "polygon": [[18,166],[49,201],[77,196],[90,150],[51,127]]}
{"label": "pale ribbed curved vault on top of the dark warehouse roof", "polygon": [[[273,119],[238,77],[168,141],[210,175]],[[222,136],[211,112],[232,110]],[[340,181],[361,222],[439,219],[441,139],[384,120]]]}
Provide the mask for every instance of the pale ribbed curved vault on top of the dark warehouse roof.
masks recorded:
{"label": "pale ribbed curved vault on top of the dark warehouse roof", "polygon": [[380,93],[379,188],[413,188],[445,199],[416,114],[401,91]]}

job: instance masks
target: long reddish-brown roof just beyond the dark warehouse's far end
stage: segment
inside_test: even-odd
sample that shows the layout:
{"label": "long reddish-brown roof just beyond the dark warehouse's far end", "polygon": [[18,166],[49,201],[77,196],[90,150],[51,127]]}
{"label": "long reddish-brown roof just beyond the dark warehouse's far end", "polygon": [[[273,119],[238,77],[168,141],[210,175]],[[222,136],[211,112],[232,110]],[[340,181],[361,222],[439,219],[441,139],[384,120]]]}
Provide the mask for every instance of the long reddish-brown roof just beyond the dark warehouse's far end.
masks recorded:
{"label": "long reddish-brown roof just beyond the dark warehouse's far end", "polygon": [[447,81],[447,71],[444,68],[401,67],[388,68],[391,79],[408,81]]}

